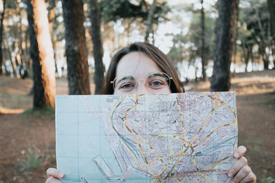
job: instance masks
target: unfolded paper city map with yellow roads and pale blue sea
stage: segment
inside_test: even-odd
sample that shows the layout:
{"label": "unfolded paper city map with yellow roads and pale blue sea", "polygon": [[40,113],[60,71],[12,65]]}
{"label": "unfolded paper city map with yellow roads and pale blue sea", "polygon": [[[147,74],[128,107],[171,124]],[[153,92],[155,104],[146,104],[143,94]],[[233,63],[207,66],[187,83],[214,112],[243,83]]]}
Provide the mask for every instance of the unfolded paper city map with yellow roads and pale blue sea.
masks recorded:
{"label": "unfolded paper city map with yellow roads and pale blue sea", "polygon": [[62,182],[230,182],[234,92],[56,96]]}

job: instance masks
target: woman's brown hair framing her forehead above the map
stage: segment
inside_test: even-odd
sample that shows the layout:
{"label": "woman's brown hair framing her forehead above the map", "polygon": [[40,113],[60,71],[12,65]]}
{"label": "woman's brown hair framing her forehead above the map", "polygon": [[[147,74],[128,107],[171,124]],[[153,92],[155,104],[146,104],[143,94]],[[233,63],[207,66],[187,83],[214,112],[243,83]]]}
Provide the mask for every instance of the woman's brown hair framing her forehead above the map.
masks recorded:
{"label": "woman's brown hair framing her forehead above the map", "polygon": [[115,55],[111,59],[111,64],[109,66],[103,84],[103,95],[113,94],[114,91],[111,81],[115,79],[115,72],[118,66],[118,62],[120,62],[121,58],[126,54],[135,51],[144,53],[146,56],[148,56],[148,58],[151,58],[151,60],[153,60],[164,73],[168,74],[170,77],[173,77],[173,80],[171,80],[170,84],[171,93],[184,93],[184,86],[179,80],[177,71],[173,66],[170,58],[168,58],[168,56],[166,56],[166,54],[160,51],[157,47],[149,44],[148,42],[135,42],[129,45],[129,47],[124,47],[120,49],[120,51],[118,51],[118,53],[115,53]]}

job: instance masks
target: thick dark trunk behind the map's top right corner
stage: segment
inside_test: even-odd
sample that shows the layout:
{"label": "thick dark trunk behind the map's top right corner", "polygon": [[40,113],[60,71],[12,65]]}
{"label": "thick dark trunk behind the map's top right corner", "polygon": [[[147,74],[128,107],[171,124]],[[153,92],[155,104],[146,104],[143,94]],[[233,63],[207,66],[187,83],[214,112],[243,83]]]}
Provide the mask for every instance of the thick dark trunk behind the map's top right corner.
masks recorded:
{"label": "thick dark trunk behind the map's top right corner", "polygon": [[216,49],[211,91],[230,89],[230,63],[234,42],[236,0],[219,0],[219,18],[216,24]]}

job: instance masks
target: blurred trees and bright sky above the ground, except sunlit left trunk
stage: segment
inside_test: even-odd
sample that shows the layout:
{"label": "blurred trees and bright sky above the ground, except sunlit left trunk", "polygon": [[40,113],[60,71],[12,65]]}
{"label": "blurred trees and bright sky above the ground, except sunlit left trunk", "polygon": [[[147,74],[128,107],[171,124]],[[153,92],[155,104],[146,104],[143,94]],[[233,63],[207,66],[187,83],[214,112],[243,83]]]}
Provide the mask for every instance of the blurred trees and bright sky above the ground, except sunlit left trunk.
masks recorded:
{"label": "blurred trees and bright sky above the ground, except sunlit left trunk", "polygon": [[[52,75],[67,77],[69,94],[99,94],[115,51],[147,40],[172,58],[182,82],[212,78],[212,90],[229,90],[234,73],[275,68],[274,6],[272,0],[46,0]],[[0,0],[0,74],[36,80],[30,38],[37,30],[28,32],[27,7],[26,0]]]}

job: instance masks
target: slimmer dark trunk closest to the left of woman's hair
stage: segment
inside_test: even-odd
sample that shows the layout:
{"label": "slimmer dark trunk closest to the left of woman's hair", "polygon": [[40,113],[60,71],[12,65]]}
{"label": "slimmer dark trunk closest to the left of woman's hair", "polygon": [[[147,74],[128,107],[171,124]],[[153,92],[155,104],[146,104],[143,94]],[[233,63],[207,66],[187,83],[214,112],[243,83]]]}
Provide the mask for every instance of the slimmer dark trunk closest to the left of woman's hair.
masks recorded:
{"label": "slimmer dark trunk closest to the left of woman's hair", "polygon": [[100,16],[98,12],[98,1],[91,0],[91,38],[94,45],[95,74],[94,82],[96,84],[96,94],[100,94],[104,81],[104,65],[102,62],[103,48],[100,34]]}

